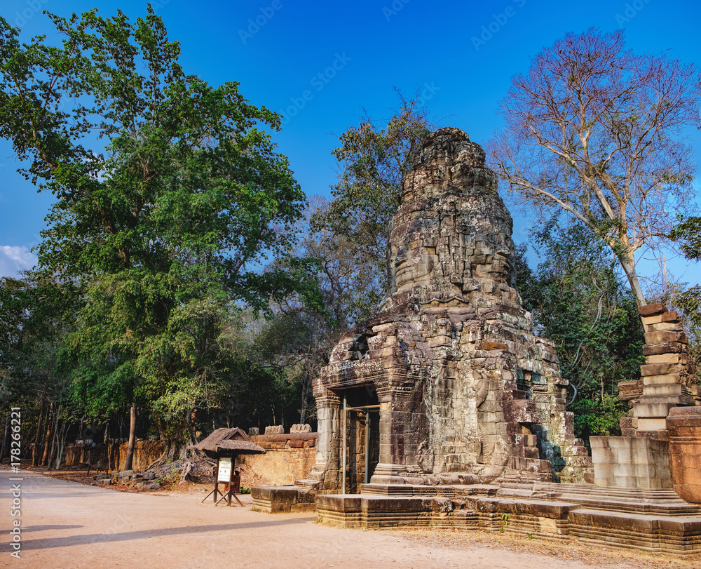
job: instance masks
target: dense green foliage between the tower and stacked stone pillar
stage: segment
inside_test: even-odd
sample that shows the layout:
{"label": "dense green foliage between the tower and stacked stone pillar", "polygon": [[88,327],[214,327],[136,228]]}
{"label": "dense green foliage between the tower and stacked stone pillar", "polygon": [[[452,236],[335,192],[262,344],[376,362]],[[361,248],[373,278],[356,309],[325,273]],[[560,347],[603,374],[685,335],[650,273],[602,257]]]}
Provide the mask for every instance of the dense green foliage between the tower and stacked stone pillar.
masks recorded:
{"label": "dense green foliage between the tower and stacked stone pillar", "polygon": [[[534,274],[517,255],[517,286],[540,335],[557,344],[562,375],[569,379],[569,409],[577,436],[620,434],[627,405],[617,385],[637,380],[644,363],[643,330],[632,293],[613,255],[586,227],[551,220],[533,234],[543,262]],[[523,281],[520,279],[524,279]]]}

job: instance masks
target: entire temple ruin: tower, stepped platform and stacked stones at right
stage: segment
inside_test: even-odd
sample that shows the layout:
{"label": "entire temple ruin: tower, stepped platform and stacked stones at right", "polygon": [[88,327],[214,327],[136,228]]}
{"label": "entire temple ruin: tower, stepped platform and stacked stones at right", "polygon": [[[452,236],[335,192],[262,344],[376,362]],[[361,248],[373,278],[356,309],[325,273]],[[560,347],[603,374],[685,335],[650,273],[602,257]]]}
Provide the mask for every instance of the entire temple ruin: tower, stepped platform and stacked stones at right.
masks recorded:
{"label": "entire temple ruin: tower, stepped platform and stacked stones at right", "polygon": [[433,133],[393,218],[390,295],[315,380],[311,474],[253,488],[254,508],[701,551],[701,406],[676,315],[641,308],[643,377],[620,386],[627,436],[592,437],[592,469],[554,346],[515,289],[511,231],[482,148]]}

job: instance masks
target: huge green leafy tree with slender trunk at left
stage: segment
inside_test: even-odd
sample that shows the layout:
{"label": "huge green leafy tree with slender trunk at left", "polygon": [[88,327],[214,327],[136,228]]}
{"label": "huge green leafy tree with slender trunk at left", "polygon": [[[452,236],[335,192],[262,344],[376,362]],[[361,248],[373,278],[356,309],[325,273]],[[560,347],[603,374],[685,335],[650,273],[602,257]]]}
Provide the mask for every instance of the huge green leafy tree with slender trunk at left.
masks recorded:
{"label": "huge green leafy tree with slender trunk at left", "polygon": [[[83,287],[64,357],[76,392],[95,413],[131,409],[131,449],[137,407],[170,393],[164,377],[202,377],[174,316],[212,295],[264,307],[294,289],[282,270],[251,267],[290,246],[304,195],[259,128],[279,116],[237,83],[185,74],[150,6],[135,23],[48,17],[60,46],[20,43],[0,20],[0,135],[57,197],[39,262]],[[215,320],[198,341],[216,341]]]}

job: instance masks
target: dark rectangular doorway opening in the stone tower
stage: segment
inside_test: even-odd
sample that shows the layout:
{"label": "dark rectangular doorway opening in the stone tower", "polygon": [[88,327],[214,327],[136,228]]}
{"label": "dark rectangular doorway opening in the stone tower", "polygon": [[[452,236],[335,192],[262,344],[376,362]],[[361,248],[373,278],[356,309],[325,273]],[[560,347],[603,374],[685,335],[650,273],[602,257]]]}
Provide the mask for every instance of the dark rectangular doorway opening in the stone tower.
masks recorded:
{"label": "dark rectangular doorway opening in the stone tower", "polygon": [[345,481],[344,493],[358,494],[380,458],[380,405],[374,385],[343,389],[339,396],[345,410],[340,425],[341,484]]}

